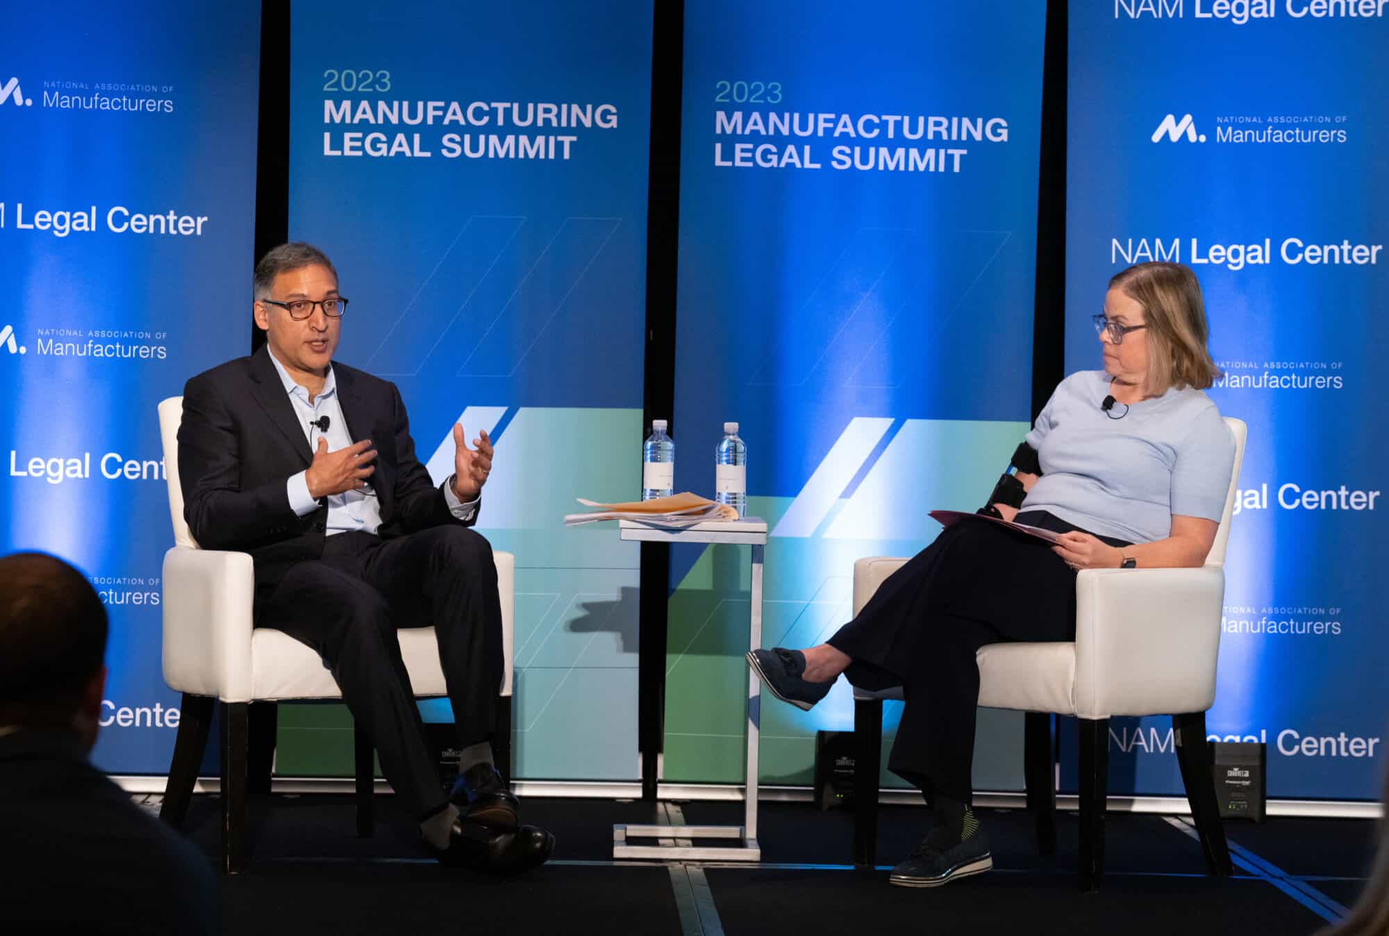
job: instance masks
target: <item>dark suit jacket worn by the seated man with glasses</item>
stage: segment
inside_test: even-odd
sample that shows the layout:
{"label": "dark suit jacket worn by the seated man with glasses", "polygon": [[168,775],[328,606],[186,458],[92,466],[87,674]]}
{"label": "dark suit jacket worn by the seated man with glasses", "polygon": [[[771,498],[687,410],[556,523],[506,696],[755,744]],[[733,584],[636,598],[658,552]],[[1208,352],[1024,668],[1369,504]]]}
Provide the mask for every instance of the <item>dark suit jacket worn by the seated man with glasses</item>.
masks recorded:
{"label": "dark suit jacket worn by the seated man with glasses", "polygon": [[[381,503],[378,535],[389,539],[463,522],[415,458],[396,385],[336,361],[333,375],[349,435],[371,439],[376,450],[371,485]],[[251,554],[258,600],[294,562],[324,554],[328,499],[297,517],[285,487],[314,458],[304,428],[267,347],[204,371],[183,387],[178,431],[183,518],[203,549]],[[475,521],[476,514],[465,525]]]}

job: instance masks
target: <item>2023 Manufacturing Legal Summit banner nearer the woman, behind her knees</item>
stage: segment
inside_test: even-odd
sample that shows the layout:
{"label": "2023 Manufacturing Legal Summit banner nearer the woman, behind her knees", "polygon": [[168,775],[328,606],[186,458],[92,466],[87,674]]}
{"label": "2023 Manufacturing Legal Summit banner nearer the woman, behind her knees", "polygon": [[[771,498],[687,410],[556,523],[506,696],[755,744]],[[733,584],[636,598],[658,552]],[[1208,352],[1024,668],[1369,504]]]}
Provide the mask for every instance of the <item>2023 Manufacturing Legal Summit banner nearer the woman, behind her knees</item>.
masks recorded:
{"label": "2023 Manufacturing Legal Summit banner nearer the woman, behind her knees", "polygon": [[[1026,432],[1043,28],[1042,3],[685,6],[675,486],[713,493],[738,421],[765,646],[849,621],[854,560],[921,550]],[[742,779],[746,568],[672,557],[669,780]],[[976,779],[1015,789],[1021,722],[983,719]],[[815,730],[851,725],[846,685],[764,704],[763,779],[808,782]]]}

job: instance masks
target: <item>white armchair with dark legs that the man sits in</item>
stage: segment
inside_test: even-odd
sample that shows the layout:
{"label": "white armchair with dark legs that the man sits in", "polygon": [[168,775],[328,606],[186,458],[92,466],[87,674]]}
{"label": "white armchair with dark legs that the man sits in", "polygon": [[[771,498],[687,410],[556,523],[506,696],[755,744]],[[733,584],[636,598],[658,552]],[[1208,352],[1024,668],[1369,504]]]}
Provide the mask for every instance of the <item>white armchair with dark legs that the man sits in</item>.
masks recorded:
{"label": "white armchair with dark legs that the man sits in", "polygon": [[[249,742],[251,782],[269,789],[275,742],[275,701],[342,700],[319,655],[289,635],[251,626],[256,572],[247,553],[199,549],[183,519],[178,474],[178,428],[183,397],[160,403],[160,436],[168,476],[175,546],[164,554],[164,682],[183,693],[174,761],[160,818],[179,826],[207,746],[213,703],[222,703],[222,864],[229,874],[244,867],[244,808]],[[515,557],[493,553],[501,596],[504,672],[496,730],[497,767],[510,776],[511,658],[515,607]],[[397,630],[410,685],[421,699],[446,696],[435,629]],[[269,703],[251,707],[250,703]],[[356,735],[357,832],[372,829],[374,751]]]}

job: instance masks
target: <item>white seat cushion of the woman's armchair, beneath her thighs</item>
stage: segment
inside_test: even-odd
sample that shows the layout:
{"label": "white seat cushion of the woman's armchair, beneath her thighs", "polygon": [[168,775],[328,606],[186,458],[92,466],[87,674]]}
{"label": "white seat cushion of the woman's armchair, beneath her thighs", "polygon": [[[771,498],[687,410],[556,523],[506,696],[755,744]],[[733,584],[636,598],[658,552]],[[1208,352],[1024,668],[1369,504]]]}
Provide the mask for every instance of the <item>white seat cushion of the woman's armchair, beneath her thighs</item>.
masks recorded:
{"label": "white seat cushion of the woman's armchair, beneath her thighs", "polygon": [[[1075,714],[1074,643],[990,643],[974,658],[985,708]],[[882,692],[856,687],[854,699],[901,699],[901,686]]]}

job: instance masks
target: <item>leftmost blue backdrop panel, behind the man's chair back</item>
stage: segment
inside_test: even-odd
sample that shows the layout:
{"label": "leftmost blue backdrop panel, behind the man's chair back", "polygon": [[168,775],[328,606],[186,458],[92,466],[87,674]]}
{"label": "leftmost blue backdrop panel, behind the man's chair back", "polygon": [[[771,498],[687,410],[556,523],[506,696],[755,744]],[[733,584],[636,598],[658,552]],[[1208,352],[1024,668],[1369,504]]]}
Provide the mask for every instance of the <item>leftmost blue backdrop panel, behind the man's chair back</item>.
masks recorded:
{"label": "leftmost blue backdrop panel, behind the man's chair back", "polygon": [[96,762],[168,769],[156,406],[250,337],[258,4],[11,4],[0,36],[0,553],[111,619]]}

